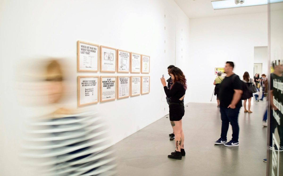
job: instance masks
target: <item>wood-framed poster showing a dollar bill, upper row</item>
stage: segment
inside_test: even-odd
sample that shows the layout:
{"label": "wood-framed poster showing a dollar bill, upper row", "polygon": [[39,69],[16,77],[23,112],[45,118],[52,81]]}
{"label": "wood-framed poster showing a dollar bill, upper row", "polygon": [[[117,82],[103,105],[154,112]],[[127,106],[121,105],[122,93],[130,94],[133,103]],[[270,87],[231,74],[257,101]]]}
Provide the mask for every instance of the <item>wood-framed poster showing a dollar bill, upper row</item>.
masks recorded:
{"label": "wood-framed poster showing a dollar bill, upper row", "polygon": [[116,72],[117,50],[100,46],[100,72]]}

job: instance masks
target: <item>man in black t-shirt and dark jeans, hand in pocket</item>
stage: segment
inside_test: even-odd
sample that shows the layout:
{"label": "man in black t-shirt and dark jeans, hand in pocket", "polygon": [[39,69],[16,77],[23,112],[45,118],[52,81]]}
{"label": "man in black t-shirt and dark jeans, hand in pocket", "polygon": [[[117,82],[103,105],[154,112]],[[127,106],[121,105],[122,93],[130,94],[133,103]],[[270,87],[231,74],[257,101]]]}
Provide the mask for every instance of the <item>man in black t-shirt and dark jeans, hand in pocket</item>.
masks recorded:
{"label": "man in black t-shirt and dark jeans, hand in pocket", "polygon": [[[243,93],[243,81],[233,73],[234,63],[226,62],[224,71],[227,76],[220,84],[220,113],[222,120],[221,137],[215,144],[224,144],[228,147],[239,146],[239,124],[238,115],[242,106],[241,95]],[[229,122],[232,126],[232,140],[227,142]]]}

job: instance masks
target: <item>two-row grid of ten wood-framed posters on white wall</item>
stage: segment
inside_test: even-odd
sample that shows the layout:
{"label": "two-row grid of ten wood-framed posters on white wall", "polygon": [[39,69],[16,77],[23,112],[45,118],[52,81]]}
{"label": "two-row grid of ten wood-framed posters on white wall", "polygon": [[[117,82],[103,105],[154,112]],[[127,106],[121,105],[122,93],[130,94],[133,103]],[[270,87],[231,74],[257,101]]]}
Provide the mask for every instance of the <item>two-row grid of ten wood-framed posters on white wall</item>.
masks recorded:
{"label": "two-row grid of ten wood-framed posters on white wall", "polygon": [[[149,73],[150,56],[78,41],[77,71]],[[149,75],[78,76],[78,106],[149,92]]]}

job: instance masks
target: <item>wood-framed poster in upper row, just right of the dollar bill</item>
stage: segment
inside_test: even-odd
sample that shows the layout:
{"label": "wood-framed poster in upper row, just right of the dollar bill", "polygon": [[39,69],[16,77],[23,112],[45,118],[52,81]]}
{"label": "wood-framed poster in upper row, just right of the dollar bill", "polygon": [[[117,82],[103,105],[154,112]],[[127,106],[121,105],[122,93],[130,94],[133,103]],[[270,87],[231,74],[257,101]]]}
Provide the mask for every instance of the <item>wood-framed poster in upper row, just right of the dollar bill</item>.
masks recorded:
{"label": "wood-framed poster in upper row, just right of the dollar bill", "polygon": [[117,72],[130,72],[130,52],[117,50]]}

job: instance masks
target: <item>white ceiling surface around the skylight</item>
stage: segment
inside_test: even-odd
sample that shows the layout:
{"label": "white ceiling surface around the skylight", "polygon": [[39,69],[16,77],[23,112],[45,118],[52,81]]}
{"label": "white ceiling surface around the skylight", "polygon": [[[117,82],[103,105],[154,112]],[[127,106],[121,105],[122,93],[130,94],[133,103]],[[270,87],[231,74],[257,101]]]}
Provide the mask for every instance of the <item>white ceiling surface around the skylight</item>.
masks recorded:
{"label": "white ceiling surface around the skylight", "polygon": [[[211,0],[174,0],[189,18],[267,12],[267,5],[214,10]],[[248,0],[246,0],[248,1]]]}

